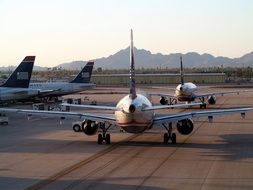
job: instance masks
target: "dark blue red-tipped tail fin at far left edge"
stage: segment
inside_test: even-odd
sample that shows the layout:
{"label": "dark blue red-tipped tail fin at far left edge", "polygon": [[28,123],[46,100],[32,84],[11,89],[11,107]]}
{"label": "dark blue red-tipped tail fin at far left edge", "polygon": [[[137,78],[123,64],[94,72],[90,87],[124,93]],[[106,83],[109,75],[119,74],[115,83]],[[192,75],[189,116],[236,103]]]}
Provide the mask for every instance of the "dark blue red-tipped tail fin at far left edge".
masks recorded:
{"label": "dark blue red-tipped tail fin at far left edge", "polygon": [[28,88],[35,56],[26,56],[1,87]]}

